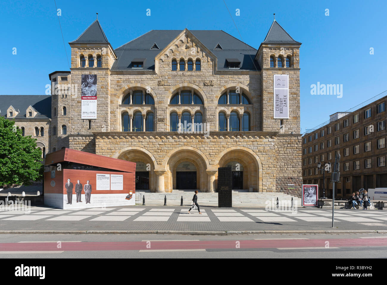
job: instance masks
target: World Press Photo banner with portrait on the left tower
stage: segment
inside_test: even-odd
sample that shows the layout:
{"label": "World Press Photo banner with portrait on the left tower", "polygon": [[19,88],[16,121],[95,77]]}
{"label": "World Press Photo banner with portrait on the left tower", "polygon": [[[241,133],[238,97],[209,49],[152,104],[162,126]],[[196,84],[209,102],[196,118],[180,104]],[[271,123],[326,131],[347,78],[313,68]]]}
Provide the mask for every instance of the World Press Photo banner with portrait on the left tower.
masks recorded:
{"label": "World Press Photo banner with portrait on the left tower", "polygon": [[97,75],[82,74],[82,119],[97,118]]}

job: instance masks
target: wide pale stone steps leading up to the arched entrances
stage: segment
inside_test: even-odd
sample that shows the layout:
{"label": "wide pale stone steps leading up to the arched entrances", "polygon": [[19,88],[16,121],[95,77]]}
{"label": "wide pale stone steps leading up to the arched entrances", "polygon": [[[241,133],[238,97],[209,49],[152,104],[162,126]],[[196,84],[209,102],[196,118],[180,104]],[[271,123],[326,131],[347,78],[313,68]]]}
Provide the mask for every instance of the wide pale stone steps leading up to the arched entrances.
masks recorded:
{"label": "wide pale stone steps leading up to the arched entrances", "polygon": [[[181,197],[183,196],[183,205],[187,206],[192,204],[192,197],[195,190],[173,190],[171,193],[151,193],[149,190],[138,190],[136,192],[136,200],[139,199],[139,194],[142,204],[142,195],[145,196],[146,205],[164,205],[164,196],[167,198],[167,206],[180,206]],[[248,192],[248,190],[233,190],[233,207],[255,207],[265,208],[267,205],[276,207],[277,197],[283,205],[291,205],[291,199],[293,197],[293,203],[301,207],[301,198],[290,196],[282,192]],[[267,202],[269,201],[269,202]],[[218,194],[215,193],[198,193],[198,203],[201,206],[217,206]],[[287,204],[288,203],[288,204]]]}

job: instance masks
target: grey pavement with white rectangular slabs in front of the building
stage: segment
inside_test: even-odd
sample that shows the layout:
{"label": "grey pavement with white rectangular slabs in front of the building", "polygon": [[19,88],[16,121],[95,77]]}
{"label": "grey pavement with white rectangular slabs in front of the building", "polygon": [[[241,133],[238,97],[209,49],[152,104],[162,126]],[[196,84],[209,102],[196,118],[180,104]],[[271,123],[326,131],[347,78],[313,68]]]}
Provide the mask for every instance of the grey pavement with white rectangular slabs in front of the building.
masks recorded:
{"label": "grey pavement with white rectangular slabs in front of the building", "polygon": [[[189,206],[116,206],[91,209],[31,207],[0,211],[3,230],[324,230],[331,226],[332,211],[298,208],[266,211],[262,208]],[[342,230],[387,230],[387,211],[335,209],[335,225]]]}

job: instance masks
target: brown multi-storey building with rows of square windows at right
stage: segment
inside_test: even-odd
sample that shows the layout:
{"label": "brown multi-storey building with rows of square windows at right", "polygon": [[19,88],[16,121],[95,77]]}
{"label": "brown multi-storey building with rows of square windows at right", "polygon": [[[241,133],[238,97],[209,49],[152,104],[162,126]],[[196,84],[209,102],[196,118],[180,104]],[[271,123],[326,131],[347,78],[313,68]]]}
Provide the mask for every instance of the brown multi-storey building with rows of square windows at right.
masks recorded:
{"label": "brown multi-storey building with rows of square windows at right", "polygon": [[[327,124],[303,135],[304,184],[319,184],[319,196],[322,196],[323,170],[317,168],[317,164],[330,162],[333,166],[339,153],[340,181],[335,186],[335,197],[349,197],[360,188],[387,187],[386,98],[353,112],[334,113]],[[330,177],[331,171],[325,172],[327,197],[332,197]]]}

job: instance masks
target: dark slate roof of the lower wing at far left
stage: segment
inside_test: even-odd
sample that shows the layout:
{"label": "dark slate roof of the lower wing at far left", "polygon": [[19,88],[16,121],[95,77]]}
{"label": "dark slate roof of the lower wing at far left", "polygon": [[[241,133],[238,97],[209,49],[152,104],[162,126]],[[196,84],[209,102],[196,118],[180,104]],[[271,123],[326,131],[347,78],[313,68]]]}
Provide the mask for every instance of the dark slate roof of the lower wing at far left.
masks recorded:
{"label": "dark slate roof of the lower wing at far left", "polygon": [[[17,119],[48,119],[51,118],[51,95],[0,95],[0,116],[5,117],[9,106],[13,106]],[[26,117],[26,110],[32,106],[38,114],[35,117]]]}

